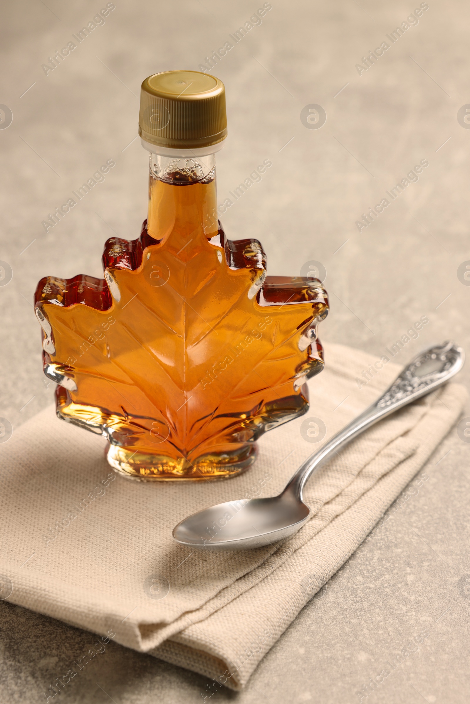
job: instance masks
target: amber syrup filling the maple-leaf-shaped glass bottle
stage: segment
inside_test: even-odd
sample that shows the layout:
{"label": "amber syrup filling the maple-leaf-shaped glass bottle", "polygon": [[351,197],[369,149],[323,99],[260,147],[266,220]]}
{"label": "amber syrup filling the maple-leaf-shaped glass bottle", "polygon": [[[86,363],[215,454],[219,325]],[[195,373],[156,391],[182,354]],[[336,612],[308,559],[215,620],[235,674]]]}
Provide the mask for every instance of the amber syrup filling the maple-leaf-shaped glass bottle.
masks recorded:
{"label": "amber syrup filling the maple-leaf-shaped glass bottle", "polygon": [[151,177],[145,225],[106,242],[106,282],[39,282],[58,415],[105,434],[109,463],[132,477],[237,474],[257,437],[308,408],[325,292],[316,279],[264,280],[259,242],[218,225],[214,178]]}

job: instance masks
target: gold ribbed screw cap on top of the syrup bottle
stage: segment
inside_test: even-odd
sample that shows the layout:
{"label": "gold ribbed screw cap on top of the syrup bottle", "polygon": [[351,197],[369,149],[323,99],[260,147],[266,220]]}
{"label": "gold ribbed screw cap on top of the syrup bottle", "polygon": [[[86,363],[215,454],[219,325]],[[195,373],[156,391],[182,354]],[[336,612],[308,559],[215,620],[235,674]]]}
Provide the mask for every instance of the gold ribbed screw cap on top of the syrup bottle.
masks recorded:
{"label": "gold ribbed screw cap on top of the syrup bottle", "polygon": [[140,89],[139,134],[145,142],[197,149],[227,137],[225,86],[199,71],[163,71]]}

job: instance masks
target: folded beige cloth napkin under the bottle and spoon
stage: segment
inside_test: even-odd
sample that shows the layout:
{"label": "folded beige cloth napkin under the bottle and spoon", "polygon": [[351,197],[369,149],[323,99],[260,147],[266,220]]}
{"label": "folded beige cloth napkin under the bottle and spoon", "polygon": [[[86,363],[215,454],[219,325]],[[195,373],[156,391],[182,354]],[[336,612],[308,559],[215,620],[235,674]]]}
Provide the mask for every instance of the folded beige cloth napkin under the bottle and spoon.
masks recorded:
{"label": "folded beige cloth napkin under the bottle and spoon", "polygon": [[326,441],[400,371],[390,362],[359,389],[356,379],[364,380],[372,361],[326,345],[307,416],[261,438],[246,474],[218,482],[116,476],[104,460],[104,439],[57,420],[52,408],[39,413],[0,445],[0,597],[102,636],[115,631],[124,646],[241,689],[426,462],[466,392],[449,384],[337,455],[305,491],[314,517],[284,543],[203,553],[178,546],[171,530],[214,503],[277,494],[320,446],[305,439],[302,423],[320,419]]}

